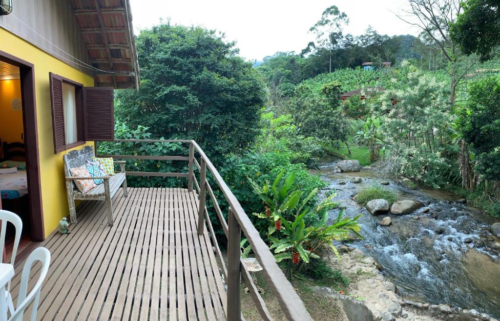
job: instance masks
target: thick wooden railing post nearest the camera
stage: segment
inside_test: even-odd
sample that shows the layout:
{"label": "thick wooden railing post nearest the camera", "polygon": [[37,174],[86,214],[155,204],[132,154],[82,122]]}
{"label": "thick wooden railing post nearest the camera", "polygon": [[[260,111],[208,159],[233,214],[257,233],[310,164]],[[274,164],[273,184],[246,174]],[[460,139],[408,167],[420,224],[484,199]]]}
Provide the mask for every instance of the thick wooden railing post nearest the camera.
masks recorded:
{"label": "thick wooden railing post nearest the camera", "polygon": [[227,215],[227,320],[241,321],[241,298],[239,282],[241,277],[239,242],[241,227],[229,208]]}

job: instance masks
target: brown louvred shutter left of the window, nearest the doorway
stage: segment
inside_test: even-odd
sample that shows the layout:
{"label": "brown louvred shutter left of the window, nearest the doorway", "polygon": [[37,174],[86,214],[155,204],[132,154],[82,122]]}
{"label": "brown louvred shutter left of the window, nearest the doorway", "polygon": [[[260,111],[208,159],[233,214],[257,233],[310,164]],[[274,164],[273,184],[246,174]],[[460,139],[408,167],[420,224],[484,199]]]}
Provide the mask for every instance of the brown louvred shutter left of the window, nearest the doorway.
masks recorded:
{"label": "brown louvred shutter left of the window, nearest the doorway", "polygon": [[52,131],[54,138],[54,153],[64,150],[66,137],[64,135],[64,114],[62,107],[62,78],[56,74],[50,76],[50,101],[52,103]]}

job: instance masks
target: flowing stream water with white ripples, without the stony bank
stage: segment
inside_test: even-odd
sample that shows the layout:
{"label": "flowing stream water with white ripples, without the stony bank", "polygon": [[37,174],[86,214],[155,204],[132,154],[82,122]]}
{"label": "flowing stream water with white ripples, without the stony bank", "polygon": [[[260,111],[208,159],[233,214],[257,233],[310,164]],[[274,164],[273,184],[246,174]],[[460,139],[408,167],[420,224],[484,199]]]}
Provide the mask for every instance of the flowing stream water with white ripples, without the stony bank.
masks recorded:
{"label": "flowing stream water with white ripples, without the stony bank", "polygon": [[[351,246],[374,257],[401,295],[500,318],[500,263],[497,253],[482,241],[497,220],[456,202],[460,197],[439,190],[411,190],[389,180],[387,188],[395,191],[398,199],[420,201],[430,211],[422,213],[421,208],[407,215],[387,214],[392,225],[381,227],[378,223],[385,215],[373,216],[350,199],[363,186],[378,182],[371,171],[332,173],[334,161],[326,160],[322,165],[322,178],[328,188],[337,190],[335,200],[347,214],[362,214],[359,222],[365,239]],[[354,176],[361,177],[362,183],[350,183]],[[340,181],[346,184],[338,184]],[[338,210],[333,210],[330,216],[337,214]]]}

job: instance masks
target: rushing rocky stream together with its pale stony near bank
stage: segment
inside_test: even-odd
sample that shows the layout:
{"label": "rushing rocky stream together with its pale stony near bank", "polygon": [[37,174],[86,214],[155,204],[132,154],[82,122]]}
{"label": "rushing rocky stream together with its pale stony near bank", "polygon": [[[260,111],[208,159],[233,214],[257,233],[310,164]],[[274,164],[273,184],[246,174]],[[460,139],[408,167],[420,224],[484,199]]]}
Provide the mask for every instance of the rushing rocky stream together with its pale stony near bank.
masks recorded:
{"label": "rushing rocky stream together with its pale stony near bank", "polygon": [[[370,168],[338,172],[337,162],[323,160],[319,172],[328,189],[336,191],[335,200],[346,214],[362,214],[359,222],[364,236],[364,240],[347,244],[344,262],[338,264],[344,270],[367,267],[376,272],[371,281],[354,285],[358,295],[376,296],[366,300],[371,310],[378,308],[370,307],[370,302],[387,299],[387,294],[377,291],[370,294],[369,289],[376,289],[374,283],[397,293],[396,299],[387,299],[381,311],[372,311],[374,320],[500,319],[500,240],[490,232],[498,220],[468,206],[459,196],[375,178]],[[403,215],[370,214],[356,203],[355,195],[363,187],[380,183],[396,192],[398,200],[422,204]],[[337,214],[338,210],[333,210],[330,216]],[[380,225],[384,217],[390,218],[390,225]],[[357,253],[354,258],[353,249]],[[373,266],[381,271],[372,269]],[[362,287],[367,293],[363,293]],[[394,310],[389,307],[391,303],[402,308],[390,311]]]}

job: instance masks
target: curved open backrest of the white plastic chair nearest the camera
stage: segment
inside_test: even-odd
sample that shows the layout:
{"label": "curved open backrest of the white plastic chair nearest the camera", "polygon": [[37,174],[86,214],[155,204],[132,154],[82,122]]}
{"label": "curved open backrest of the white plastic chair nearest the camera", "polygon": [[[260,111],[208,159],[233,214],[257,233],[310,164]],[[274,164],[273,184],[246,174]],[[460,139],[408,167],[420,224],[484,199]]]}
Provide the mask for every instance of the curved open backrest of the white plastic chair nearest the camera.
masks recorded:
{"label": "curved open backrest of the white plastic chair nearest the camera", "polygon": [[[35,261],[41,262],[40,274],[38,276],[38,280],[36,280],[36,283],[33,286],[33,289],[31,289],[29,294],[27,294],[29,272]],[[41,284],[47,276],[49,265],[50,252],[48,252],[48,250],[45,248],[36,248],[28,256],[26,262],[24,262],[24,267],[22,268],[21,283],[19,285],[19,295],[17,296],[17,304],[8,321],[21,321],[24,315],[24,310],[31,302],[33,302],[33,310],[31,312],[31,317],[29,318],[29,320],[35,321],[36,311],[38,310],[38,302],[40,300]]]}

